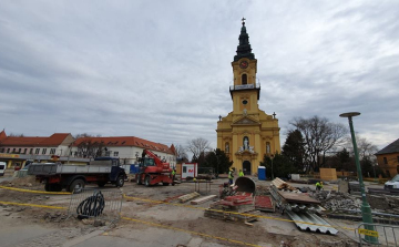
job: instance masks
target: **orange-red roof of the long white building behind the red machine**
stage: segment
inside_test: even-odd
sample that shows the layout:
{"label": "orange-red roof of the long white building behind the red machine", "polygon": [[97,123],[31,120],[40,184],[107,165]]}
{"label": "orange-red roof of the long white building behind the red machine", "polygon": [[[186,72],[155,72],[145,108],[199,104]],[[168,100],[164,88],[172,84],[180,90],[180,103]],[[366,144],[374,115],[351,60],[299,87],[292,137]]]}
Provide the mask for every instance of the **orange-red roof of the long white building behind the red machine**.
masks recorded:
{"label": "orange-red roof of the long white building behind the red machine", "polygon": [[114,136],[114,137],[80,137],[73,143],[73,146],[79,146],[83,142],[103,143],[104,146],[137,146],[152,151],[173,154],[171,148],[161,143],[154,143],[144,138],[135,136]]}

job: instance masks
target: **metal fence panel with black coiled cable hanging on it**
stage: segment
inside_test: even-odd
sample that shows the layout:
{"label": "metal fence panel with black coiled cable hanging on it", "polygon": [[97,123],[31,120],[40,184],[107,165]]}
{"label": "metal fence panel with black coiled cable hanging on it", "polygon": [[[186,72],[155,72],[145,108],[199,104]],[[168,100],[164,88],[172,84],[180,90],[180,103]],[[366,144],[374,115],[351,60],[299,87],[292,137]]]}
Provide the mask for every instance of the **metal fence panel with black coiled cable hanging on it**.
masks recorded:
{"label": "metal fence panel with black coiled cable hanging on it", "polygon": [[79,194],[71,194],[68,214],[79,218],[116,222],[121,217],[122,199],[121,189],[84,188]]}

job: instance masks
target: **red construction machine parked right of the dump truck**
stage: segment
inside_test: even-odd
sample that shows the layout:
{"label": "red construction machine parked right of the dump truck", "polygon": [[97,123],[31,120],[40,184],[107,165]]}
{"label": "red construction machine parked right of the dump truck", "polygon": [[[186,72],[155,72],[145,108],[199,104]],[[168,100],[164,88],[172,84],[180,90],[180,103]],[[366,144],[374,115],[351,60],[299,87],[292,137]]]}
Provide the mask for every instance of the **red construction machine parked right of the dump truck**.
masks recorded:
{"label": "red construction machine parked right of the dump truck", "polygon": [[174,185],[170,164],[163,163],[158,156],[149,150],[143,151],[140,159],[140,173],[135,175],[135,178],[139,185],[144,184],[147,187],[158,183],[164,186]]}

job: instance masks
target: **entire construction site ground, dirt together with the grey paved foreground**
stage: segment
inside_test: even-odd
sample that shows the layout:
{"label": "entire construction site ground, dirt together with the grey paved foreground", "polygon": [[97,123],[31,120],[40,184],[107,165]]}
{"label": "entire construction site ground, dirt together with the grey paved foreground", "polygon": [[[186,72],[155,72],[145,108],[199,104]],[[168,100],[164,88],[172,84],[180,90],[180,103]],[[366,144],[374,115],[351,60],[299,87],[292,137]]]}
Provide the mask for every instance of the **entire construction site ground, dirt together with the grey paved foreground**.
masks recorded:
{"label": "entire construction site ground, dirt together with the grey paved foreground", "polygon": [[[269,185],[269,182],[255,181],[256,185]],[[300,231],[287,215],[278,212],[259,213],[266,217],[246,225],[204,217],[204,208],[217,198],[201,205],[177,200],[178,196],[193,193],[195,187],[202,195],[218,195],[224,182],[227,179],[214,179],[209,192],[205,184],[145,187],[126,182],[122,188],[126,196],[122,203],[122,218],[115,225],[106,222],[105,226],[68,217],[71,195],[0,188],[0,246],[358,246],[352,230],[342,228],[356,227],[354,222],[326,219],[339,230],[332,236]],[[44,191],[34,177],[3,181],[0,185]],[[88,187],[96,188],[95,185]],[[106,185],[103,189],[119,188]],[[4,205],[7,202],[13,204]]]}

